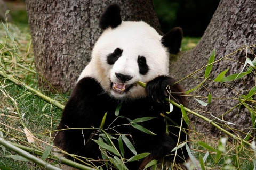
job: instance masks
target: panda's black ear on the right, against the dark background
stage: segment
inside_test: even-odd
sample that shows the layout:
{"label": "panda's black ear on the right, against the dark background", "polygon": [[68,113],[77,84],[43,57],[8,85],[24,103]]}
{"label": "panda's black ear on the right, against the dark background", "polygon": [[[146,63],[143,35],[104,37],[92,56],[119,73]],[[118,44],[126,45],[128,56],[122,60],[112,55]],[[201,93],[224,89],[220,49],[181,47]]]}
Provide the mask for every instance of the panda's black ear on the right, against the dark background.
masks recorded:
{"label": "panda's black ear on the right, against the dark background", "polygon": [[162,37],[162,44],[169,49],[169,53],[177,54],[180,51],[183,31],[175,27]]}

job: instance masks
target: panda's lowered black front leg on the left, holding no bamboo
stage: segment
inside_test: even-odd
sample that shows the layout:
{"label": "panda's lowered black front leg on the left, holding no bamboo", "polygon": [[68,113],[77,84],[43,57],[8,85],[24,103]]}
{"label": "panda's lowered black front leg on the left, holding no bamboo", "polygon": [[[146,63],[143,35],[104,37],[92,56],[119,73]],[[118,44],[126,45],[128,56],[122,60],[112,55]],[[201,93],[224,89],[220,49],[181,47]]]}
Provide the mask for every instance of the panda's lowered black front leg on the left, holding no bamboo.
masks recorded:
{"label": "panda's lowered black front leg on the left, holding no bamboo", "polygon": [[95,79],[84,77],[79,80],[62,113],[59,131],[53,136],[54,145],[69,154],[98,159],[101,155],[99,146],[90,139],[98,140],[99,132],[93,128],[100,127],[108,109],[106,96]]}

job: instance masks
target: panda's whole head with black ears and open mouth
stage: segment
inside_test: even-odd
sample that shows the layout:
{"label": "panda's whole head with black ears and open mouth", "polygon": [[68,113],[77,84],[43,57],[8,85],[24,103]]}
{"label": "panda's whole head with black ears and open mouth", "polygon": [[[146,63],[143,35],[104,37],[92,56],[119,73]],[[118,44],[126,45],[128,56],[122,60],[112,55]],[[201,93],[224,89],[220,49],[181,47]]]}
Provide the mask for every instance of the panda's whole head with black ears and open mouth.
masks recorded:
{"label": "panda's whole head with black ears and open mouth", "polygon": [[95,78],[105,92],[119,100],[145,97],[145,89],[136,82],[168,75],[169,54],[180,50],[181,28],[161,36],[143,21],[122,21],[117,4],[102,14],[100,28],[103,32],[81,77]]}

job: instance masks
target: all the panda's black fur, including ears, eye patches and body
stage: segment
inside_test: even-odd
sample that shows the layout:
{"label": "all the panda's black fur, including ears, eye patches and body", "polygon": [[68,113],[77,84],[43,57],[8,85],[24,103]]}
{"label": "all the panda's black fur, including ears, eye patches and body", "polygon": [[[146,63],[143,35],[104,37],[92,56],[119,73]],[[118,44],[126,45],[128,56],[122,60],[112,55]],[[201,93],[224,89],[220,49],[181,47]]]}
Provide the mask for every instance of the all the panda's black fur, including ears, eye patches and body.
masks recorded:
{"label": "all the panda's black fur, including ears, eye patches and body", "polygon": [[[116,28],[121,22],[120,8],[117,4],[112,4],[103,13],[100,19],[100,28]],[[162,43],[169,48],[170,53],[176,54],[179,52],[181,39],[181,28],[174,28],[163,36]],[[122,49],[116,48],[113,53],[107,56],[106,62],[113,65],[118,58],[122,56],[122,52]],[[146,75],[150,69],[147,65],[146,57],[138,56],[137,62],[139,73]],[[162,65],[159,67],[161,66]],[[127,81],[132,78],[131,76],[128,77],[127,75],[119,73],[117,73],[116,76],[122,81]],[[177,146],[179,132],[181,132],[180,143],[188,140],[188,135],[186,134],[188,126],[185,122],[182,123],[182,130],[180,131],[182,119],[181,110],[174,107],[170,114],[166,113],[169,111],[170,107],[169,102],[165,100],[166,97],[180,104],[186,104],[186,99],[182,96],[183,89],[179,84],[174,83],[174,79],[164,75],[147,82],[147,96],[133,100],[123,100],[119,111],[119,116],[123,116],[123,118],[118,117],[116,119],[115,111],[120,100],[111,97],[108,93],[103,91],[99,82],[94,78],[82,78],[77,82],[62,113],[61,121],[57,128],[60,131],[54,134],[54,145],[70,154],[93,159],[102,159],[99,146],[92,139],[99,139],[101,132],[99,129],[94,128],[100,127],[102,118],[104,114],[107,113],[103,129],[105,129],[108,134],[112,134],[115,138],[119,137],[118,134],[127,134],[137,154],[143,152],[150,153],[148,157],[140,161],[128,162],[126,166],[130,170],[143,169],[153,159],[159,160],[165,158],[165,160],[172,161],[175,152],[171,152],[171,150]],[[129,91],[129,88],[132,89],[134,86],[139,85],[132,84],[126,91]],[[161,116],[161,113],[169,117],[171,121]],[[141,117],[156,117],[153,120],[137,123],[156,135],[149,135],[133,128],[129,124],[129,120]],[[82,130],[74,128],[87,129]],[[166,133],[166,129],[168,133]],[[114,145],[119,148],[118,141],[113,139],[113,142]],[[129,159],[134,156],[125,145],[124,150],[125,158]],[[185,147],[178,149],[177,154],[175,159],[176,163],[183,163],[188,159],[188,153]],[[100,162],[98,165],[103,165],[103,162]],[[103,166],[103,168],[106,167]]]}

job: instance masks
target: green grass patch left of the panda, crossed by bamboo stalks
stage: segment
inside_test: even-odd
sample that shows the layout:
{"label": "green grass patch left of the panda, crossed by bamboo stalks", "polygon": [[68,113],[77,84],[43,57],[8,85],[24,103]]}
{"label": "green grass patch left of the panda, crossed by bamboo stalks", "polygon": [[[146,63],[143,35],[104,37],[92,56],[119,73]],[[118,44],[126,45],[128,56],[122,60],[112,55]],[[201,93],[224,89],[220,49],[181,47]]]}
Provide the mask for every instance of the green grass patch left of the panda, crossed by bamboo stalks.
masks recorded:
{"label": "green grass patch left of the panda, crossed by bamboo stalks", "polygon": [[[11,36],[15,33],[14,41],[10,40],[1,24],[0,71],[13,75],[20,82],[25,82],[28,86],[64,104],[66,100],[63,100],[58,94],[51,94],[49,91],[44,91],[38,87],[28,25],[25,24],[18,28],[14,24],[9,24],[8,30]],[[50,132],[58,125],[62,109],[47,103],[33,92],[1,76],[0,91],[0,132],[2,132],[4,139],[31,147],[23,133],[23,122],[27,129],[38,138],[34,147],[44,150],[45,143],[42,141],[46,143],[50,141]],[[17,108],[15,108],[12,99],[17,104]],[[23,117],[22,121],[17,114],[18,112]],[[18,163],[17,160],[5,157],[6,155],[17,155],[7,148],[5,153],[3,148],[0,149],[0,154],[0,169],[2,169],[1,166],[22,170],[39,169],[38,165],[31,162]]]}

